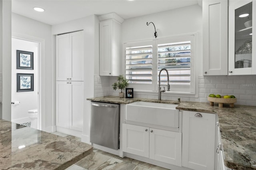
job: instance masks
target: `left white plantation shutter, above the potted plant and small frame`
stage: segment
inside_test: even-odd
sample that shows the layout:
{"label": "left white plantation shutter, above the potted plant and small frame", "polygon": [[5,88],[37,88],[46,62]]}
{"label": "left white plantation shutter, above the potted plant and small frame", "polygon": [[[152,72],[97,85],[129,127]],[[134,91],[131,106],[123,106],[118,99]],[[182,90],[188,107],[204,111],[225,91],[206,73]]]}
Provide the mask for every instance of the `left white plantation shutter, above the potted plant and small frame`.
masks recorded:
{"label": "left white plantation shutter, above the potted plant and small frame", "polygon": [[129,83],[152,84],[152,45],[125,48]]}

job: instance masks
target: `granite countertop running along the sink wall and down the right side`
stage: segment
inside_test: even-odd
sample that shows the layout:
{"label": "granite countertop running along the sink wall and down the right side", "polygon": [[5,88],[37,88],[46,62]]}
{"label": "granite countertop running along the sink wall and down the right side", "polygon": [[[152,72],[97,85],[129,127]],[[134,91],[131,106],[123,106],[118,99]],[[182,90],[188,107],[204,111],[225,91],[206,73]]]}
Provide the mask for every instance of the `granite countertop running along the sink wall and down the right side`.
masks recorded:
{"label": "granite countertop running along the sink wall and down the right side", "polygon": [[129,104],[135,101],[178,104],[176,109],[218,114],[224,150],[224,164],[234,170],[256,170],[256,107],[234,105],[218,107],[218,103],[124,99],[116,96],[89,98],[90,101]]}

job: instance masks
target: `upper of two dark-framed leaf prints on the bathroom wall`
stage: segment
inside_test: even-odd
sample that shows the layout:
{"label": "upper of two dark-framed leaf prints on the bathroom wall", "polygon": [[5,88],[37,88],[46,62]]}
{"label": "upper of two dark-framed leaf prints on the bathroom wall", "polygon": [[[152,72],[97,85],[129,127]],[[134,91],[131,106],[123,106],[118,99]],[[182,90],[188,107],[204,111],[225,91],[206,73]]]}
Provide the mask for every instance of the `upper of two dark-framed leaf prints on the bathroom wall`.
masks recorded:
{"label": "upper of two dark-framed leaf prints on the bathroom wall", "polygon": [[34,52],[16,50],[16,69],[34,69]]}

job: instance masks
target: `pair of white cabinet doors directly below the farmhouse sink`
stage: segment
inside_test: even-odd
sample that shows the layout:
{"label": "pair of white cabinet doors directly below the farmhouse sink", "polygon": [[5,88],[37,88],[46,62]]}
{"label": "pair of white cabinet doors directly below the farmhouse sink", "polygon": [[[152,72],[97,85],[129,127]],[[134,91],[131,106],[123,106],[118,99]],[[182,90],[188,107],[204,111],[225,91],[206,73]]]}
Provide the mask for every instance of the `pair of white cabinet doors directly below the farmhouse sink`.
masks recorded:
{"label": "pair of white cabinet doors directly below the farmhouse sink", "polygon": [[123,124],[123,151],[181,166],[182,134]]}

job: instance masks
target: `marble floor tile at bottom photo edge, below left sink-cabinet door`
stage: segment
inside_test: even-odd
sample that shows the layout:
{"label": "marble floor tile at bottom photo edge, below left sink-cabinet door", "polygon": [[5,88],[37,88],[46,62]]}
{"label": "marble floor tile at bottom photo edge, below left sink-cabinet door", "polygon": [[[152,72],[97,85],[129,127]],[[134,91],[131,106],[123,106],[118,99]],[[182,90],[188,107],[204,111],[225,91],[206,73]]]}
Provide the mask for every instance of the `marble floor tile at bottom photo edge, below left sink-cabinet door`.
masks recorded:
{"label": "marble floor tile at bottom photo edge, below left sink-cabinet door", "polygon": [[134,164],[116,158],[110,158],[98,167],[98,170],[133,170],[135,167],[136,165]]}

